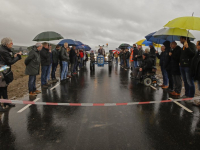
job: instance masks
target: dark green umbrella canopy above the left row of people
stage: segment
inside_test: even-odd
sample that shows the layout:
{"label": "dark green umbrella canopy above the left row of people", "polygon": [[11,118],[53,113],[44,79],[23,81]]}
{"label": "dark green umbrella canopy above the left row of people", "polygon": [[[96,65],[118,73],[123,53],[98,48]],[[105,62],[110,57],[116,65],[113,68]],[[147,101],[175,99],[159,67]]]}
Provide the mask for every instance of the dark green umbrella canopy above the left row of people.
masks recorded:
{"label": "dark green umbrella canopy above the left row of people", "polygon": [[60,40],[63,39],[63,37],[53,31],[47,31],[47,32],[42,32],[38,34],[33,41],[53,41],[53,40]]}

